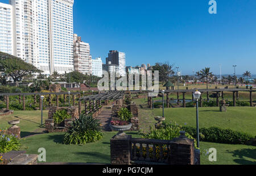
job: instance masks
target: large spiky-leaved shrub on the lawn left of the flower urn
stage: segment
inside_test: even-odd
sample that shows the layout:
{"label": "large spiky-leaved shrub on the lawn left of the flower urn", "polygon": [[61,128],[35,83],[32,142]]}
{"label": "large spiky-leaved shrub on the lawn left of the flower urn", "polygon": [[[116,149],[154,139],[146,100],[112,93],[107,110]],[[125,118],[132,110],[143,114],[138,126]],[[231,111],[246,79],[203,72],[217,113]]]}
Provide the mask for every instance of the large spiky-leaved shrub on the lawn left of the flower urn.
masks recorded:
{"label": "large spiky-leaved shrub on the lawn left of the flower urn", "polygon": [[86,144],[102,139],[103,133],[100,131],[100,123],[92,116],[82,114],[79,119],[75,119],[65,133],[64,144]]}

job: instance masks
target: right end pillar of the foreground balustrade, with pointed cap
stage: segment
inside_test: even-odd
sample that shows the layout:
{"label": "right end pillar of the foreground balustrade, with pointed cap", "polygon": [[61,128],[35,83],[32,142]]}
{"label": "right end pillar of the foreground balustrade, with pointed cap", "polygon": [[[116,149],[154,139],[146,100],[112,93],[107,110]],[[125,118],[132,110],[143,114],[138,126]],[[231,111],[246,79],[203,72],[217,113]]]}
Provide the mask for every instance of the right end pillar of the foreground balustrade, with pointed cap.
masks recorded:
{"label": "right end pillar of the foreground balustrade, with pointed cap", "polygon": [[170,164],[171,165],[193,165],[195,161],[194,141],[180,132],[180,137],[170,143]]}

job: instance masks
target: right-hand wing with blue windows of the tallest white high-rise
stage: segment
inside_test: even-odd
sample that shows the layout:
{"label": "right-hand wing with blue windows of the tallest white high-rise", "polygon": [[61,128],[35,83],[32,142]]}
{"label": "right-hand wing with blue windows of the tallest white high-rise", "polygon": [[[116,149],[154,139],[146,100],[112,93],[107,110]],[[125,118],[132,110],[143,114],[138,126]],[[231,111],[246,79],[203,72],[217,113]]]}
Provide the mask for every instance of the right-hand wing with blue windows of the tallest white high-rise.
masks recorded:
{"label": "right-hand wing with blue windows of the tallest white high-rise", "polygon": [[49,0],[50,71],[72,72],[74,0]]}

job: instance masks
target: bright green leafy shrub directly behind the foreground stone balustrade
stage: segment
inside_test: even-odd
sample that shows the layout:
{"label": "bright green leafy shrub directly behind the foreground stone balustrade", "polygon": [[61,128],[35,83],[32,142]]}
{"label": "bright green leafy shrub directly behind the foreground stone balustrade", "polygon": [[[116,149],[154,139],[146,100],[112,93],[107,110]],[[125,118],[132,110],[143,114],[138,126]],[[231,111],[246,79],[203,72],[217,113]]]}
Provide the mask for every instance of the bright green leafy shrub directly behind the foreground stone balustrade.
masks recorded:
{"label": "bright green leafy shrub directly behind the foreground stone balustrade", "polygon": [[[183,131],[182,127],[176,123],[167,124],[163,123],[162,127],[158,129],[150,129],[149,133],[142,133],[142,137],[145,139],[159,139],[159,140],[173,140],[175,137],[180,136],[180,131]],[[195,148],[196,148],[196,140],[191,136],[188,132],[185,135],[189,139],[194,140]]]}

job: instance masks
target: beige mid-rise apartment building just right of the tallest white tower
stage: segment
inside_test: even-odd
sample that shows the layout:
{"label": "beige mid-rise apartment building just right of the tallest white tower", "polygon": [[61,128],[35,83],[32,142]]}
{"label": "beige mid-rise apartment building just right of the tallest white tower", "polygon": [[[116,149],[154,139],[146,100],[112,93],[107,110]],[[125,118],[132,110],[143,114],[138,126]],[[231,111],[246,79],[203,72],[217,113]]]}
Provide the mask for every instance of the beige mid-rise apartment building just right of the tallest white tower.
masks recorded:
{"label": "beige mid-rise apartment building just right of the tallest white tower", "polygon": [[92,74],[92,56],[89,43],[84,43],[81,37],[74,34],[74,67],[75,71],[82,74]]}

